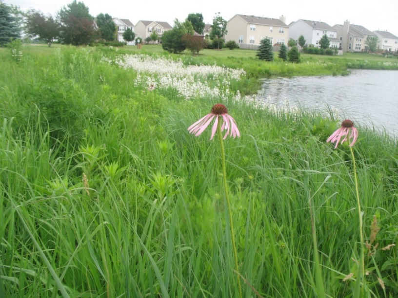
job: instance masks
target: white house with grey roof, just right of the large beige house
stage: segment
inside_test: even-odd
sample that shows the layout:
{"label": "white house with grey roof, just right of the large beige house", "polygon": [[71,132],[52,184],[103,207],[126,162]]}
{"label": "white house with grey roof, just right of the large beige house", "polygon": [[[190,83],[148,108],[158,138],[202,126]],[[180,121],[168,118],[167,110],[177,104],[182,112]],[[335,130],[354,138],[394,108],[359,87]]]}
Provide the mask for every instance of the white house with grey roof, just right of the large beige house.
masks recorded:
{"label": "white house with grey roof, just right of the large beige house", "polygon": [[297,41],[302,35],[307,44],[312,44],[316,47],[320,47],[319,40],[325,34],[330,40],[330,47],[337,48],[337,30],[325,22],[299,19],[289,24],[289,38]]}

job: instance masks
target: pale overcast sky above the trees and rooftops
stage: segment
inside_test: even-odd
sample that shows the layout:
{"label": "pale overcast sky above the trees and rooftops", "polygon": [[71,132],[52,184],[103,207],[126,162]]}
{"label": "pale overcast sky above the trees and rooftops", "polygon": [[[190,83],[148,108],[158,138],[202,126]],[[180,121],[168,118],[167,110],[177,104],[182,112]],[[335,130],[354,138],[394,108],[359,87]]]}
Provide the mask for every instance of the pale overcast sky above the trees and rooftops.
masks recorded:
{"label": "pale overcast sky above the trees and rooftops", "polygon": [[[4,2],[20,6],[22,11],[34,8],[55,17],[63,6],[73,0],[4,0]],[[333,26],[342,24],[348,19],[351,24],[361,25],[370,31],[386,30],[398,36],[398,0],[251,0],[247,2],[244,0],[83,0],[82,2],[89,8],[89,13],[93,17],[107,13],[114,18],[129,19],[134,25],[139,20],[155,20],[166,21],[173,26],[174,19],[183,21],[190,13],[201,13],[205,23],[212,23],[215,14],[220,12],[222,18],[226,20],[236,14],[266,18],[279,18],[284,15],[287,25],[298,19],[308,19],[326,22]]]}

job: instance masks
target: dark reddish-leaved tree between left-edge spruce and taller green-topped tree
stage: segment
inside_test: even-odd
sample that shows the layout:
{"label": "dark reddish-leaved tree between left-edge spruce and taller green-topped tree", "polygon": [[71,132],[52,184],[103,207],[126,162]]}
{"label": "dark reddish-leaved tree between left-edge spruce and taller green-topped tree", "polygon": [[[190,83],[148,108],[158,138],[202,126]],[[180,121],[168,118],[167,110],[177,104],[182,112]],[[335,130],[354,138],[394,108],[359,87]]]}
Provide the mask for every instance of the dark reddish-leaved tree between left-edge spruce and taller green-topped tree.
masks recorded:
{"label": "dark reddish-leaved tree between left-edge spruce and taller green-topped tree", "polygon": [[53,17],[46,17],[41,11],[31,9],[26,14],[25,32],[30,37],[39,37],[50,47],[54,38],[60,35],[60,24]]}

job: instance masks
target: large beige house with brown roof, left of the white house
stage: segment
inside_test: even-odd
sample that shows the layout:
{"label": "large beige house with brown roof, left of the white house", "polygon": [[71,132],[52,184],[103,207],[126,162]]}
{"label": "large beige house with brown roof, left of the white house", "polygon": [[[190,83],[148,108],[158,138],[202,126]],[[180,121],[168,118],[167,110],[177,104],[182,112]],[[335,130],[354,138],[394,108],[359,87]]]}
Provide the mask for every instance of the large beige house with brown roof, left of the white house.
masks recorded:
{"label": "large beige house with brown roof, left of the white house", "polygon": [[286,18],[279,19],[235,15],[227,22],[225,41],[235,40],[239,48],[257,49],[261,39],[269,38],[272,44],[287,44],[289,27]]}

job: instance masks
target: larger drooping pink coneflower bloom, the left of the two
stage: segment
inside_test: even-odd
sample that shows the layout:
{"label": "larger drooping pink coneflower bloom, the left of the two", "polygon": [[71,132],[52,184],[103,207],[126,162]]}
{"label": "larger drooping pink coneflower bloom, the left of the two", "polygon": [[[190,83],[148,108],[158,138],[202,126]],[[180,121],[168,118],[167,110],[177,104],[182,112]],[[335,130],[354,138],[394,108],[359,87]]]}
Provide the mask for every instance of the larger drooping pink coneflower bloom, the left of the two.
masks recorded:
{"label": "larger drooping pink coneflower bloom, the left of the two", "polygon": [[213,124],[212,134],[210,137],[210,140],[212,140],[214,135],[216,134],[217,125],[219,123],[219,116],[222,116],[222,119],[224,120],[221,126],[221,131],[227,130],[227,132],[224,135],[224,139],[227,137],[228,134],[229,136],[233,136],[234,138],[236,136],[240,137],[240,133],[236,125],[235,119],[228,114],[227,108],[222,104],[214,105],[210,114],[207,114],[203,118],[199,119],[199,121],[195,122],[190,127],[188,127],[188,131],[190,133],[194,133],[196,136],[199,136],[209,126],[213,118],[216,118]]}

